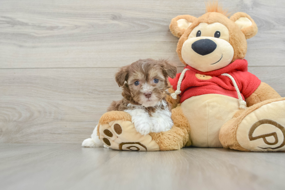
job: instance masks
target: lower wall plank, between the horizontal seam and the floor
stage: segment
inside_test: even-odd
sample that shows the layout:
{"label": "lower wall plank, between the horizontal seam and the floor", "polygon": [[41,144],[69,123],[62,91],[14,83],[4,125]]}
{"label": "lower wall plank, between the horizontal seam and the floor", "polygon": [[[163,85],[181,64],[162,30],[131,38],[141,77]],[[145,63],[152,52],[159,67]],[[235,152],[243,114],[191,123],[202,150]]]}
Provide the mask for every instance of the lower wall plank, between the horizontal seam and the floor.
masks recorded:
{"label": "lower wall plank, between the horizontal seam and the floor", "polygon": [[[285,67],[249,71],[283,97]],[[179,67],[181,72],[183,67]],[[0,143],[77,143],[90,137],[112,100],[117,68],[0,69]],[[274,73],[272,75],[271,73]]]}

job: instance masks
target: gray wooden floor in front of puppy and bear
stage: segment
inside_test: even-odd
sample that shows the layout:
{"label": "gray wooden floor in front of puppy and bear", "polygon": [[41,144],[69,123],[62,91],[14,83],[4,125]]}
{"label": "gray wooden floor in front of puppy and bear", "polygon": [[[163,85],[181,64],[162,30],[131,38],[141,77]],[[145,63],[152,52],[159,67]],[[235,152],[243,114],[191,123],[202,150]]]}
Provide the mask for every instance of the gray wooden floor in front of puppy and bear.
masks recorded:
{"label": "gray wooden floor in front of puppy and bear", "polygon": [[66,144],[0,144],[0,152],[3,190],[285,189],[283,153],[129,152]]}

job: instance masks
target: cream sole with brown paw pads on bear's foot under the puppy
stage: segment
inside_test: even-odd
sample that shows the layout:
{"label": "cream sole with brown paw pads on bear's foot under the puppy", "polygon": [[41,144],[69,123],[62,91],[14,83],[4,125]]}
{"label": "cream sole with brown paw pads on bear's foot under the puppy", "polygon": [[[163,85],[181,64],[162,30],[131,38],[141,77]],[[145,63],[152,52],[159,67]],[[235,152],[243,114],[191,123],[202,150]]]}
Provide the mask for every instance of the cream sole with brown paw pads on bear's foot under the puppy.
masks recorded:
{"label": "cream sole with brown paw pads on bear's foot under the puppy", "polygon": [[99,137],[105,146],[115,150],[159,151],[152,137],[141,135],[131,121],[114,120],[99,126]]}

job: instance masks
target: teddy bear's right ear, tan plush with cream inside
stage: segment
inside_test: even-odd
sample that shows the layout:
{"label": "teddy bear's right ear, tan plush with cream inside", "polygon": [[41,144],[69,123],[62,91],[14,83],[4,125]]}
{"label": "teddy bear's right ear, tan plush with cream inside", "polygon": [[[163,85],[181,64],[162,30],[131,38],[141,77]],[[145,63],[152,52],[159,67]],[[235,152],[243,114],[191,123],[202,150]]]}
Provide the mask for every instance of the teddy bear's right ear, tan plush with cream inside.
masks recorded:
{"label": "teddy bear's right ear, tan plush with cream inside", "polygon": [[257,25],[254,20],[244,12],[237,12],[230,17],[238,25],[246,39],[254,37],[257,34]]}

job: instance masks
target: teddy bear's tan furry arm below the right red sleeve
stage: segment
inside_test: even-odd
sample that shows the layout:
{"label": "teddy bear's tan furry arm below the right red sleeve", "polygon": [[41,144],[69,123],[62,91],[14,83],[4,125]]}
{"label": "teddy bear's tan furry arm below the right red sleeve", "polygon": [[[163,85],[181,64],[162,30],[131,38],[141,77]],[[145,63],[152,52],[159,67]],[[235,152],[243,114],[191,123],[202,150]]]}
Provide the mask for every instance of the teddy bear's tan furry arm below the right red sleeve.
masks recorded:
{"label": "teddy bear's tan furry arm below the right red sleeve", "polygon": [[261,82],[258,88],[245,99],[247,107],[268,99],[281,98],[281,96],[268,84]]}

